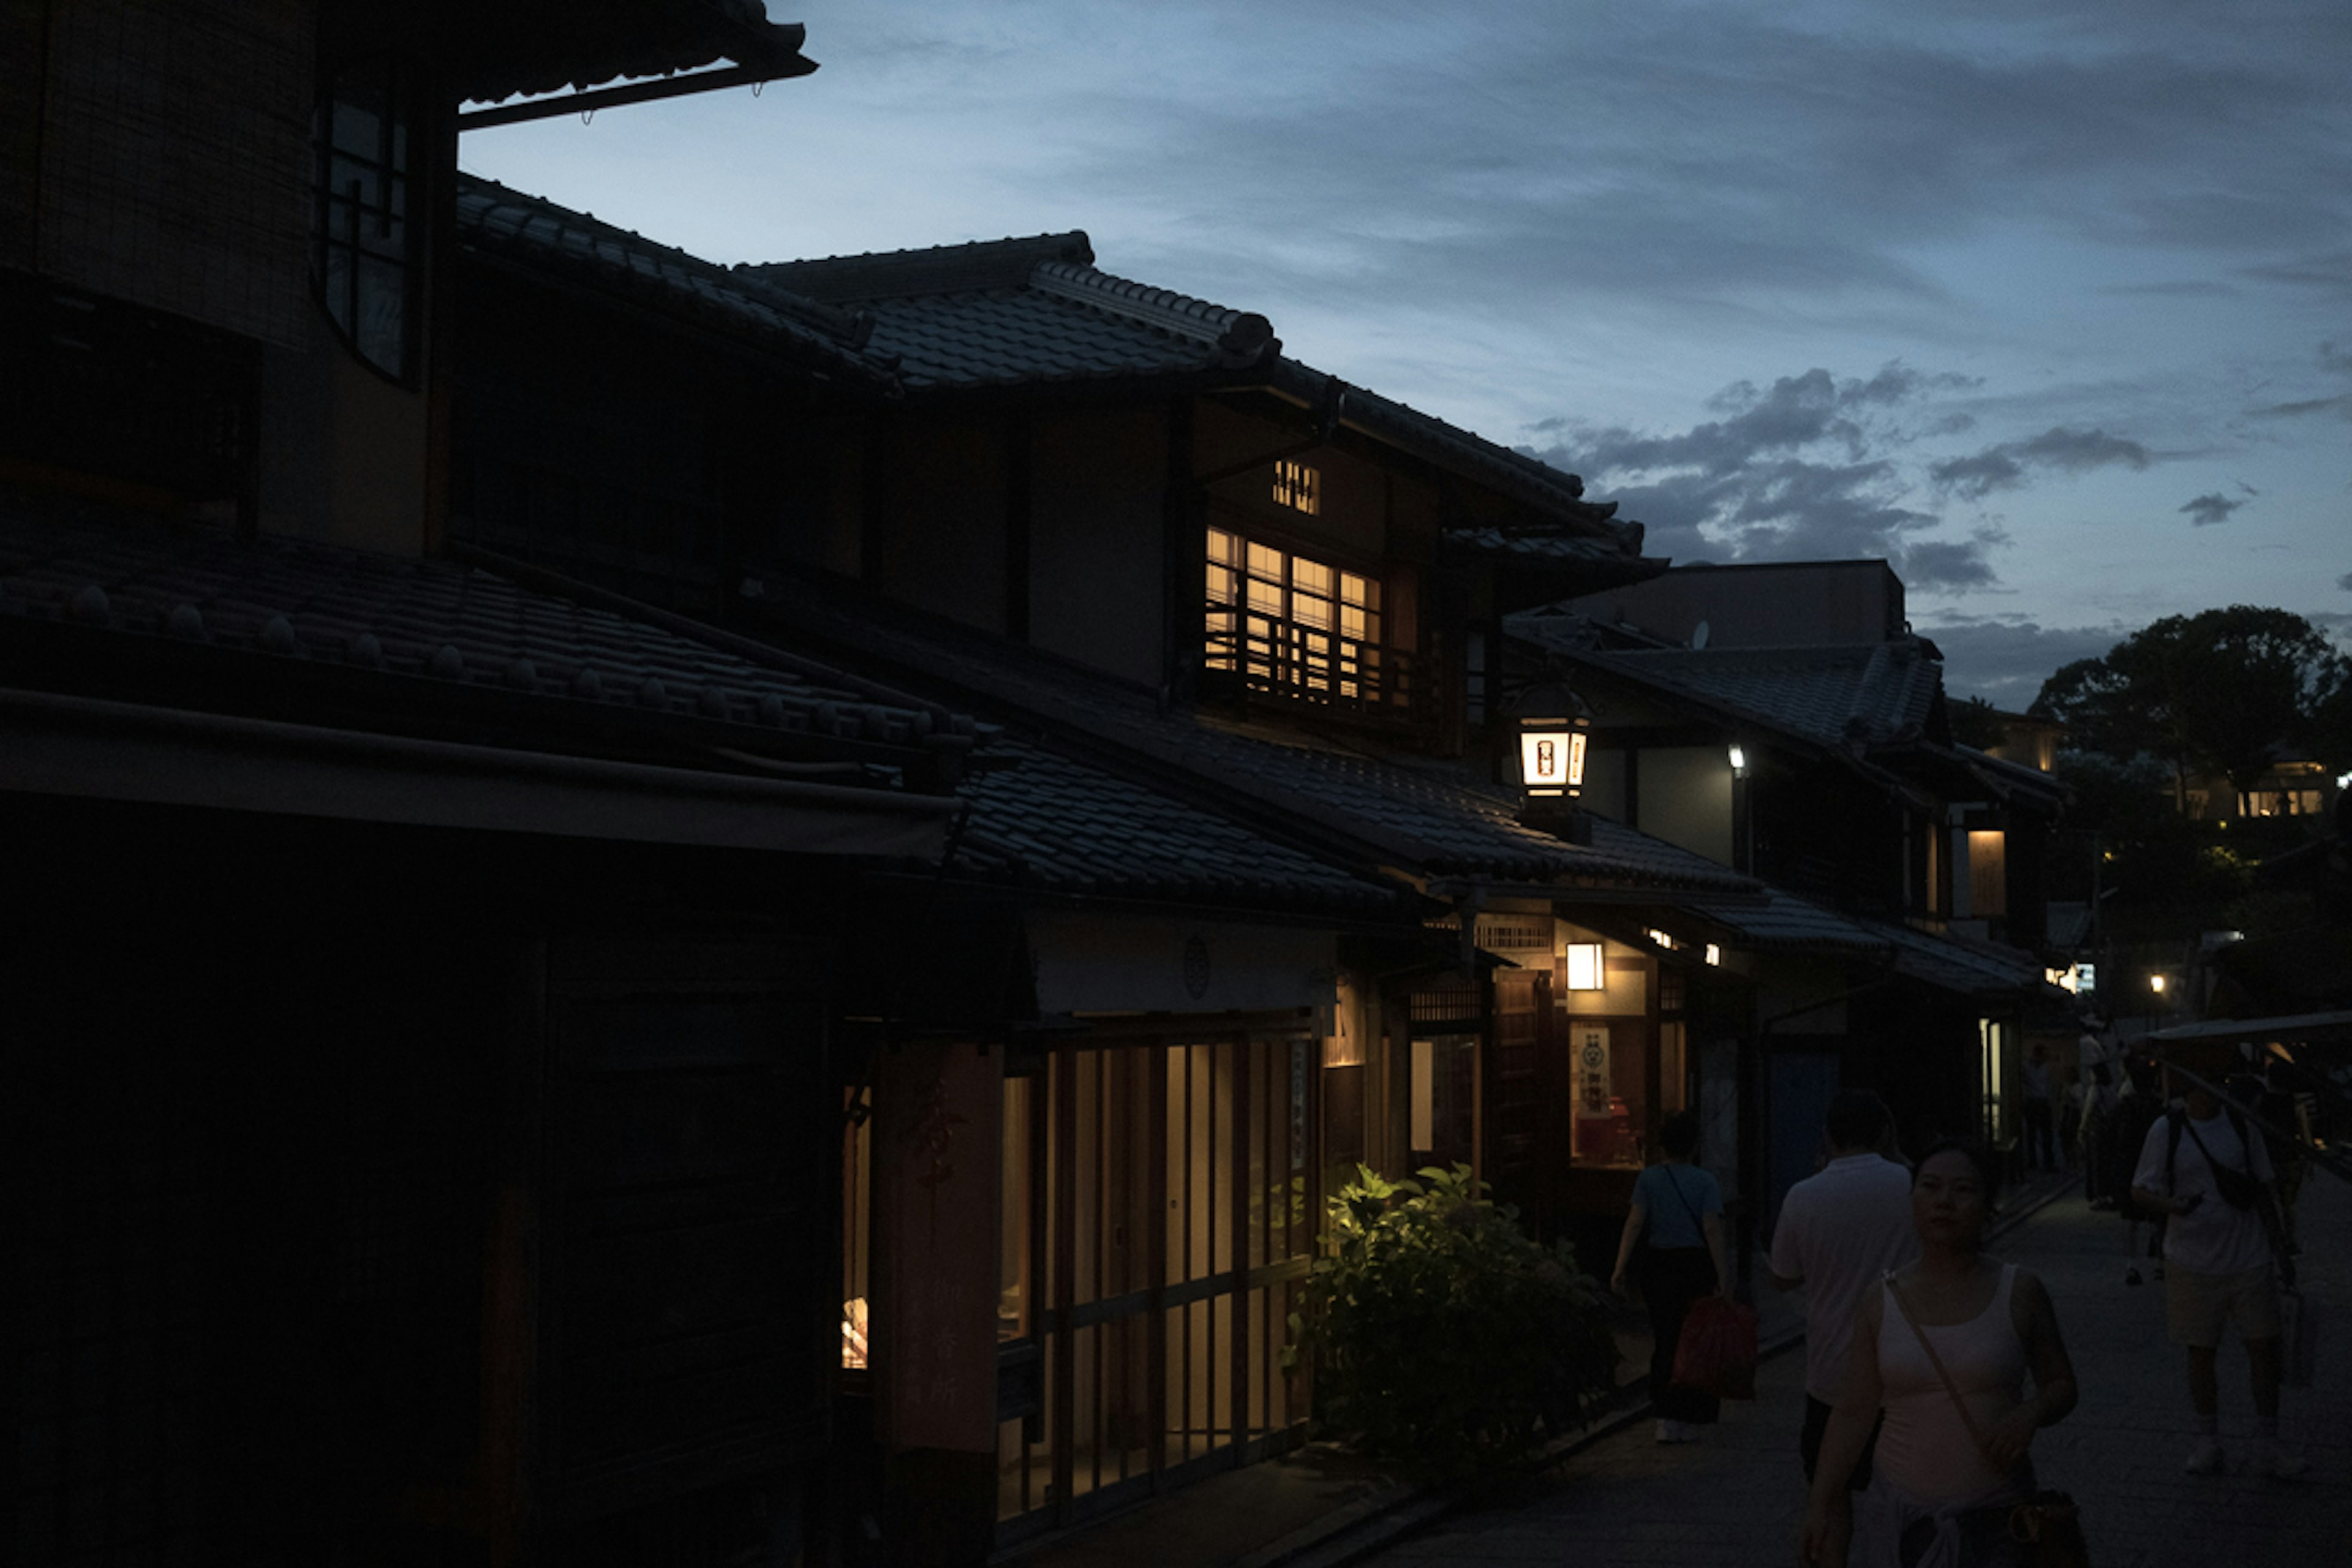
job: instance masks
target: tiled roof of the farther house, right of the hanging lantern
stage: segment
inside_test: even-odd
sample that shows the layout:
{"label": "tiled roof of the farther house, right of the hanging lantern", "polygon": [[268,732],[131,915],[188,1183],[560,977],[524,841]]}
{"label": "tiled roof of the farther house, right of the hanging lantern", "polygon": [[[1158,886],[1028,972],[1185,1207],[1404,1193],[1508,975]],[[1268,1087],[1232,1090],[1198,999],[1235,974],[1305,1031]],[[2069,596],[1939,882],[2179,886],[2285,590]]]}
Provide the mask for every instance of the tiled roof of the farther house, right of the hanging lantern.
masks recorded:
{"label": "tiled roof of the farther house, right of the hanging lantern", "polygon": [[1818,745],[1917,738],[1943,689],[1919,637],[1816,649],[1599,649],[1581,616],[1524,614],[1510,635]]}

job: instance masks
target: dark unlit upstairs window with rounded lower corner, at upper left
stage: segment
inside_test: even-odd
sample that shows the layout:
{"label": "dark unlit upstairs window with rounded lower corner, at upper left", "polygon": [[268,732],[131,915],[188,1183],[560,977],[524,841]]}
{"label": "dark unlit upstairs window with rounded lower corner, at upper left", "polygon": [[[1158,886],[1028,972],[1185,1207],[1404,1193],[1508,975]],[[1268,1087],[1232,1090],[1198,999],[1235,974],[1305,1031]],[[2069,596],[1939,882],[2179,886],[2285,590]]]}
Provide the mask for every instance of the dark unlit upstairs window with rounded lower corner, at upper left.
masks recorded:
{"label": "dark unlit upstairs window with rounded lower corner, at upper left", "polygon": [[339,71],[320,108],[320,303],[350,350],[409,378],[421,256],[412,212],[412,85],[388,61]]}

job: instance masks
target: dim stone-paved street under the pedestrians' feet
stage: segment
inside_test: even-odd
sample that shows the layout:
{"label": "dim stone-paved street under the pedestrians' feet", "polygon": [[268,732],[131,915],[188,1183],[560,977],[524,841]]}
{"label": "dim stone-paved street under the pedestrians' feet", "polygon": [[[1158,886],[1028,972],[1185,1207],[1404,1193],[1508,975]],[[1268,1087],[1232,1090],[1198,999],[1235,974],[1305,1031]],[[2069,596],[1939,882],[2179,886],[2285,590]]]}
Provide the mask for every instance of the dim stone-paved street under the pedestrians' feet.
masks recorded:
{"label": "dim stone-paved street under the pedestrians' feet", "polygon": [[[2352,1187],[2314,1173],[2303,1192],[2305,1293],[2324,1307],[2319,1375],[2288,1389],[2288,1446],[2305,1481],[2244,1474],[2253,1429],[2246,1361],[2223,1349],[2223,1443],[2230,1474],[2180,1469],[2190,1410],[2180,1352],[2164,1342],[2161,1284],[2124,1288],[2122,1225],[2067,1197],[1994,1248],[2051,1286],[2082,1378],[2082,1406],[2042,1434],[2046,1486],[2084,1507],[2100,1568],[2227,1568],[2352,1563]],[[1623,1432],[1475,1514],[1374,1559],[1388,1568],[1454,1563],[1691,1563],[1783,1568],[1797,1561],[1802,1514],[1797,1425],[1804,1356],[1769,1361],[1752,1406],[1726,1406],[1705,1441],[1658,1448]]]}

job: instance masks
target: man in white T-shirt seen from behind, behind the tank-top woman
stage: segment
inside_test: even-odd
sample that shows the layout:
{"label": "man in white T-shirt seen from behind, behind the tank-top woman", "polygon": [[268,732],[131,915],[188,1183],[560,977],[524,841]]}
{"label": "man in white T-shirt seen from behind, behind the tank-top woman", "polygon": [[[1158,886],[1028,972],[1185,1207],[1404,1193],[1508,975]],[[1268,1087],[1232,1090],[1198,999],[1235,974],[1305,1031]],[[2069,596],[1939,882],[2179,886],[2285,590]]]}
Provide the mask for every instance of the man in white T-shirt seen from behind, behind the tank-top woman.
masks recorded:
{"label": "man in white T-shirt seen from behind, behind the tank-top woman", "polygon": [[[1828,1114],[1830,1164],[1788,1190],[1771,1234],[1773,1286],[1804,1286],[1804,1432],[1797,1450],[1809,1483],[1820,1460],[1820,1434],[1846,1380],[1853,1312],[1870,1286],[1919,1251],[1910,1168],[1882,1154],[1889,1131],[1884,1100],[1867,1088],[1839,1088]],[[1870,1441],[1877,1443],[1877,1432]],[[1870,1448],[1863,1448],[1851,1486],[1870,1486]],[[1842,1521],[1823,1556],[1828,1568],[1844,1566],[1851,1526],[1851,1516]]]}

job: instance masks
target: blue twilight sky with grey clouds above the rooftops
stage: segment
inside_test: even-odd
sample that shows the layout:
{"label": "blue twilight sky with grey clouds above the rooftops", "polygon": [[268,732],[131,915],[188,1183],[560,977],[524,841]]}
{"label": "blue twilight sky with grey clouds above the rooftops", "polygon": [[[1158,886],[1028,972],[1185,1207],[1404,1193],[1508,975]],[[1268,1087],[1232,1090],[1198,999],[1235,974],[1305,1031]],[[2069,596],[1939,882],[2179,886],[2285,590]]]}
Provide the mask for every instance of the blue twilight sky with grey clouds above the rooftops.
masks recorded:
{"label": "blue twilight sky with grey clouds above the rooftops", "polygon": [[769,12],[816,75],[461,162],[715,261],[1084,228],[1651,555],[1884,555],[1955,693],[2216,604],[2352,642],[2347,0]]}

